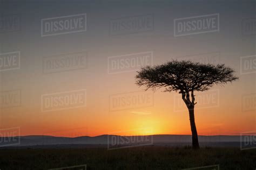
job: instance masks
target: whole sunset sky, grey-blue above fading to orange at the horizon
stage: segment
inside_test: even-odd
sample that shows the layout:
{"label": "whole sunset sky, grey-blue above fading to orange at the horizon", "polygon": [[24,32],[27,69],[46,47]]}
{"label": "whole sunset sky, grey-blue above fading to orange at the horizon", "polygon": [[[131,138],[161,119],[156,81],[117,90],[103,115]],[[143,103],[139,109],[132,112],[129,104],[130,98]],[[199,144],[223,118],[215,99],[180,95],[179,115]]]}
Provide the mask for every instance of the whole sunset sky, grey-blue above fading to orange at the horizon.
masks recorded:
{"label": "whole sunset sky, grey-blue above fading to orange at the horizon", "polygon": [[1,130],[191,134],[180,94],[135,84],[141,67],[177,59],[239,77],[196,94],[198,134],[256,131],[255,1],[0,3]]}

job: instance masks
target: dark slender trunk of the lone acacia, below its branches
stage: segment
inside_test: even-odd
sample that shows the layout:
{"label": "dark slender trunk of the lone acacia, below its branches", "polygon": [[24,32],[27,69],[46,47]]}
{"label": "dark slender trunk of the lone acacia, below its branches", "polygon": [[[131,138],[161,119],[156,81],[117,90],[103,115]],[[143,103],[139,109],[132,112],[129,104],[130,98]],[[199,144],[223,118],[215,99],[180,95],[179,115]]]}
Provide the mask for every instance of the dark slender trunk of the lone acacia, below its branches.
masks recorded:
{"label": "dark slender trunk of the lone acacia, below its branches", "polygon": [[198,149],[199,143],[198,143],[197,127],[196,127],[196,123],[194,122],[194,105],[192,105],[191,107],[188,107],[188,112],[190,114],[190,126],[191,126],[191,132],[192,132],[192,147],[193,147],[193,149]]}

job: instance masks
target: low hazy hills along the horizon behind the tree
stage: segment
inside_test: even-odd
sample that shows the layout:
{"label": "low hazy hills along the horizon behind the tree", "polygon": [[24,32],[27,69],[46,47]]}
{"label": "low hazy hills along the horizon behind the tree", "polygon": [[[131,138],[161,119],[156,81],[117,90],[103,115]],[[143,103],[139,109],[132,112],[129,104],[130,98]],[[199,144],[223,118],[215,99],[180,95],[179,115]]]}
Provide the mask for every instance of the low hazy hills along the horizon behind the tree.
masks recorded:
{"label": "low hazy hills along the horizon behind the tree", "polygon": [[[192,139],[190,135],[172,135],[172,134],[159,134],[150,136],[138,136],[150,138],[152,145],[191,145]],[[96,137],[82,136],[82,137],[54,137],[54,136],[21,136],[11,137],[19,141],[19,144],[14,146],[35,146],[35,145],[107,145],[108,138],[111,139],[129,139],[134,136],[115,136],[115,135],[101,135]],[[199,136],[199,143],[209,146],[239,146],[240,136]],[[12,140],[11,139],[11,140]],[[3,137],[0,146],[4,146],[10,137]]]}

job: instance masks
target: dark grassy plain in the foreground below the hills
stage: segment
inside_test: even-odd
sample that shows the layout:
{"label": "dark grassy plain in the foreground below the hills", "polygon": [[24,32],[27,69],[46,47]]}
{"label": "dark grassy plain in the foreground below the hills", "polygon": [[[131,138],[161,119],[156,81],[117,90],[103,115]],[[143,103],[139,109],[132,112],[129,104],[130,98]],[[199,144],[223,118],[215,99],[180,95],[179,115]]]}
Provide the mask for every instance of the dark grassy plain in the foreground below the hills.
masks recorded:
{"label": "dark grassy plain in the foreground below the hills", "polygon": [[183,169],[219,164],[220,169],[255,169],[255,150],[239,148],[133,147],[0,150],[0,169],[50,169],[74,165],[87,169]]}

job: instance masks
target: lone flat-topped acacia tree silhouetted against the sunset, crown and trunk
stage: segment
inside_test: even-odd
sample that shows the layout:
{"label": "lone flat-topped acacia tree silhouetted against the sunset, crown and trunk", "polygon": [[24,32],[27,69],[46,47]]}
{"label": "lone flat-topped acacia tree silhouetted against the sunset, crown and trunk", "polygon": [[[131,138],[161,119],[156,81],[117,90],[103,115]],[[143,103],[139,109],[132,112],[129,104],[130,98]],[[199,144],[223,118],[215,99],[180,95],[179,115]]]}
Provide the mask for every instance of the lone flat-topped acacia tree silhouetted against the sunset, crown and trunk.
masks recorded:
{"label": "lone flat-topped acacia tree silhouetted against the sunset, crown and trunk", "polygon": [[146,66],[136,75],[136,84],[146,89],[165,88],[181,94],[190,116],[192,146],[199,148],[196,123],[194,121],[194,91],[206,91],[214,84],[225,84],[238,79],[234,70],[224,64],[212,65],[191,61],[172,60],[158,66]]}

